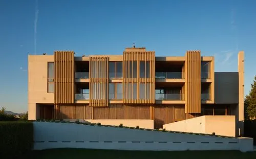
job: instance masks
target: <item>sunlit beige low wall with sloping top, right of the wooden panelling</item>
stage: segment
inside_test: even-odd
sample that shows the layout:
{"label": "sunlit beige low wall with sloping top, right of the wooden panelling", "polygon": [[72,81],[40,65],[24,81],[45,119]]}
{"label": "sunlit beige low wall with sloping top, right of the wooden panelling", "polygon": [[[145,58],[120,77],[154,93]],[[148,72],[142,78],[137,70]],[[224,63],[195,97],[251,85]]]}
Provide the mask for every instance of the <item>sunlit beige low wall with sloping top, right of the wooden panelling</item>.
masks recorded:
{"label": "sunlit beige low wall with sloping top, right of the wooden panelling", "polygon": [[170,131],[236,136],[235,116],[201,116],[163,125]]}

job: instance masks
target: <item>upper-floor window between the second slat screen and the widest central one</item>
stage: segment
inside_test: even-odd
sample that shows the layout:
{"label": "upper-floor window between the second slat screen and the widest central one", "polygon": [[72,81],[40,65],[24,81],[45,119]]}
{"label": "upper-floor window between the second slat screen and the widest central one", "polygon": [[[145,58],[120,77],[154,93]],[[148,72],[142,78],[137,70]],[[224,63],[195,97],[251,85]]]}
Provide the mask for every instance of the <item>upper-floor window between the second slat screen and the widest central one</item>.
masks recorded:
{"label": "upper-floor window between the second slat screen and the widest central one", "polygon": [[109,62],[109,78],[123,77],[123,62]]}

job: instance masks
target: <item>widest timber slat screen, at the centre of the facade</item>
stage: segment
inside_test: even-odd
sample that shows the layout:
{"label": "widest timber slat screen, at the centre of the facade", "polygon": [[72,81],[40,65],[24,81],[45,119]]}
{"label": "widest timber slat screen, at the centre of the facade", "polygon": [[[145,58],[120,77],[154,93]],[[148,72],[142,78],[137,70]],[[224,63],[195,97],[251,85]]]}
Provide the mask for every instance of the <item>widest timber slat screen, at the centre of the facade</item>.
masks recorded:
{"label": "widest timber slat screen, at the centre of the facade", "polygon": [[123,52],[123,103],[155,103],[155,52],[130,48]]}

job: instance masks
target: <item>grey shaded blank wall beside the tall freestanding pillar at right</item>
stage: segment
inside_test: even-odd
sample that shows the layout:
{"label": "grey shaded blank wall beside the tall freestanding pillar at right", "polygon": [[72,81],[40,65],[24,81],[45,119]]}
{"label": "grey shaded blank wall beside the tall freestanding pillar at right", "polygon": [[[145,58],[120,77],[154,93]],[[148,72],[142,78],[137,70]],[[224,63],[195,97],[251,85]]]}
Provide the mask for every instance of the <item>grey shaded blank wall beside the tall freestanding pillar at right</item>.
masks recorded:
{"label": "grey shaded blank wall beside the tall freestanding pillar at right", "polygon": [[237,72],[215,73],[215,104],[237,104],[239,97]]}

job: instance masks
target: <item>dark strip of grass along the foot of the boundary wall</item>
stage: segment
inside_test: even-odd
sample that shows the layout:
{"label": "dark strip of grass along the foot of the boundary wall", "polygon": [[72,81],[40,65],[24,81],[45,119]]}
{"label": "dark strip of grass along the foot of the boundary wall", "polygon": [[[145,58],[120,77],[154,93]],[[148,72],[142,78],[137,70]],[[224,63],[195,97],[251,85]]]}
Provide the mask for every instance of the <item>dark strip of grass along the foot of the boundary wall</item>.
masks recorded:
{"label": "dark strip of grass along the foot of the boundary wall", "polygon": [[37,159],[75,159],[75,158],[104,158],[104,159],[151,159],[151,158],[256,158],[256,152],[240,151],[122,151],[122,150],[95,150],[95,149],[48,149],[32,151],[21,158]]}

